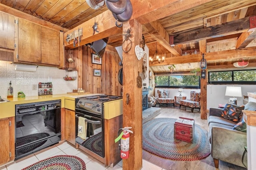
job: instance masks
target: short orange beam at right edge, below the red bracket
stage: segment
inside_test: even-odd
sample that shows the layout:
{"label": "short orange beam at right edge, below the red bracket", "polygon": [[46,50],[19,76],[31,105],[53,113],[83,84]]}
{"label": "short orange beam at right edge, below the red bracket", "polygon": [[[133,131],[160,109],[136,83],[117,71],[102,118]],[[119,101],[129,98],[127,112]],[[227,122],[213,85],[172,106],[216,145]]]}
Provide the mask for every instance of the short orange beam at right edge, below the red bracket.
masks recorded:
{"label": "short orange beam at right edge, below the red bracket", "polygon": [[245,48],[256,38],[256,31],[244,32],[236,41],[236,49]]}

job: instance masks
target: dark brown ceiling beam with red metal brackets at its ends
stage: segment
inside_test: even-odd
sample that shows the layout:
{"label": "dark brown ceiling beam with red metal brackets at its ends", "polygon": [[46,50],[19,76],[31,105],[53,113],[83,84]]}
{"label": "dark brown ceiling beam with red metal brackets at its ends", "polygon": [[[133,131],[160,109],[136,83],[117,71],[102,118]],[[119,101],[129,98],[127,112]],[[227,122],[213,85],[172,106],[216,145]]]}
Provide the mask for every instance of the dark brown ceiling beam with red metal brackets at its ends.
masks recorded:
{"label": "dark brown ceiling beam with red metal brackets at its ends", "polygon": [[174,35],[174,44],[189,43],[202,39],[211,39],[213,37],[222,37],[226,35],[247,32],[250,29],[249,17],[230,21],[221,25],[199,28],[192,31],[182,31]]}

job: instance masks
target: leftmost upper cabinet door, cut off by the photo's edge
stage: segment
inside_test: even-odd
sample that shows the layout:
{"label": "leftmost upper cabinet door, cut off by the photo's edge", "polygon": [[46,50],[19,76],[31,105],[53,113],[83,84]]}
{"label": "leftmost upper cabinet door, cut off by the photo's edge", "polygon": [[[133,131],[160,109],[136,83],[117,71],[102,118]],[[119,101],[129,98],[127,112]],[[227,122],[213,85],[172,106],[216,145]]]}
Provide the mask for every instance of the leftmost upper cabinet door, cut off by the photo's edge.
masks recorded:
{"label": "leftmost upper cabinet door, cut off by the photo's edge", "polygon": [[0,48],[14,50],[14,16],[0,12]]}

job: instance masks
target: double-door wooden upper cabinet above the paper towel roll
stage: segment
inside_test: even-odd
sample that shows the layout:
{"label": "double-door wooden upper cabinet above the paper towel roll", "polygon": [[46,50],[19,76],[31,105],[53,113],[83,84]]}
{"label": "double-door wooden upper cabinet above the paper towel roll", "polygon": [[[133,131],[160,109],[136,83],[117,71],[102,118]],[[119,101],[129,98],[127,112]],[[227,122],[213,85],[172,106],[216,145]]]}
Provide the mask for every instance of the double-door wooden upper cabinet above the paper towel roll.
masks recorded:
{"label": "double-door wooden upper cabinet above the paper towel roll", "polygon": [[60,66],[60,60],[64,58],[61,34],[59,31],[19,19],[18,62]]}

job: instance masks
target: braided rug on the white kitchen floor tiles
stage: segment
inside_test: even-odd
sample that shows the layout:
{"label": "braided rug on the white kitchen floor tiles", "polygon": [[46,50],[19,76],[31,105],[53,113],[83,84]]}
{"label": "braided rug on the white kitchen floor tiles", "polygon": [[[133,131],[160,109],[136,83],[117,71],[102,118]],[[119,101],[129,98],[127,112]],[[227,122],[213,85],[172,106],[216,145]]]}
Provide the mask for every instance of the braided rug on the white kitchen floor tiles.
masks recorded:
{"label": "braided rug on the white kitchen floor tiles", "polygon": [[86,166],[77,156],[58,155],[36,162],[22,170],[86,170]]}

